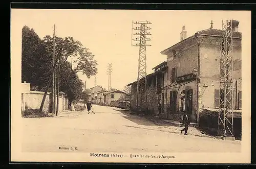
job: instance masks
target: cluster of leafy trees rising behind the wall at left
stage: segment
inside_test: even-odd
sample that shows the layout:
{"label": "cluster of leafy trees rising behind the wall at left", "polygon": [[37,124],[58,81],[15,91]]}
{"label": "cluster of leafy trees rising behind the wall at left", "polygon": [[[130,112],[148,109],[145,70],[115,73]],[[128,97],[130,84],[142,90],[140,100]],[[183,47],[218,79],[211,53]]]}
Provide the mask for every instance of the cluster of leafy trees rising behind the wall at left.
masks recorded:
{"label": "cluster of leafy trees rising behind the wall at left", "polygon": [[[69,62],[60,66],[60,91],[66,93],[70,103],[81,98],[83,83],[77,76],[82,70],[88,78],[97,73],[97,62],[88,49],[82,47],[73,37],[56,37],[56,56],[62,50],[62,57],[78,56],[78,66],[71,69]],[[49,35],[41,40],[33,29],[25,26],[22,30],[22,81],[31,84],[32,89],[44,91],[52,69],[53,38]],[[50,89],[49,89],[50,90]]]}

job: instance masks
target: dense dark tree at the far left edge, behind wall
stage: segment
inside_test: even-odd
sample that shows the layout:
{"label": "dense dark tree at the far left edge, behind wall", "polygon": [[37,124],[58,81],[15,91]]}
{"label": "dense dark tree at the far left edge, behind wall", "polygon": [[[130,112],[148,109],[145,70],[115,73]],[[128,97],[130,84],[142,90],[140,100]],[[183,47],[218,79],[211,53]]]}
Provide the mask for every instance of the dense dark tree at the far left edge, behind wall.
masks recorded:
{"label": "dense dark tree at the far left edge, behind wall", "polygon": [[46,86],[50,72],[50,58],[46,57],[43,41],[27,26],[22,29],[22,82],[31,83],[32,89]]}

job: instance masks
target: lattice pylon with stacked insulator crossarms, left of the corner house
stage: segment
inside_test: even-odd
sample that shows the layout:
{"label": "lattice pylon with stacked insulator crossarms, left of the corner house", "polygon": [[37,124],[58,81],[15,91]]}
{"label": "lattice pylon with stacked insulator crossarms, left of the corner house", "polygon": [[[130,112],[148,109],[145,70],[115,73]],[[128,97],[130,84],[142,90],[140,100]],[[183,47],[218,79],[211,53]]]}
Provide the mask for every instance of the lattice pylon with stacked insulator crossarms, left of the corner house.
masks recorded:
{"label": "lattice pylon with stacked insulator crossarms, left of the corner house", "polygon": [[[136,108],[140,105],[144,105],[147,103],[147,82],[146,82],[146,46],[151,46],[146,43],[146,41],[150,41],[151,39],[148,36],[151,35],[147,30],[151,30],[147,25],[151,24],[149,21],[133,21],[132,22],[132,46],[139,47],[139,59],[138,59],[138,79],[137,79],[137,97],[136,97]],[[134,27],[135,25],[135,27]],[[133,30],[138,31],[133,33]],[[133,38],[135,36],[135,38]],[[134,41],[138,41],[135,45]],[[143,79],[144,78],[144,79]],[[141,80],[142,79],[142,80]],[[141,98],[139,99],[139,93],[141,93]],[[144,96],[143,96],[144,94]]]}

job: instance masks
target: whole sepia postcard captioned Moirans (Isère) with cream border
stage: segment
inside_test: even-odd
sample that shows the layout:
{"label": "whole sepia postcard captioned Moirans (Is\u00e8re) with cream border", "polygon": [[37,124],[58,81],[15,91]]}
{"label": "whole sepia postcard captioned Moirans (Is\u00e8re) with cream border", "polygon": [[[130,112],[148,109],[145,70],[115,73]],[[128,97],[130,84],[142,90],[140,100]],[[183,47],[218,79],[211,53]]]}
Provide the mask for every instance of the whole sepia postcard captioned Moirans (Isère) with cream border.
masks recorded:
{"label": "whole sepia postcard captioned Moirans (Is\u00e8re) with cream border", "polygon": [[10,161],[250,163],[250,32],[250,11],[11,9]]}

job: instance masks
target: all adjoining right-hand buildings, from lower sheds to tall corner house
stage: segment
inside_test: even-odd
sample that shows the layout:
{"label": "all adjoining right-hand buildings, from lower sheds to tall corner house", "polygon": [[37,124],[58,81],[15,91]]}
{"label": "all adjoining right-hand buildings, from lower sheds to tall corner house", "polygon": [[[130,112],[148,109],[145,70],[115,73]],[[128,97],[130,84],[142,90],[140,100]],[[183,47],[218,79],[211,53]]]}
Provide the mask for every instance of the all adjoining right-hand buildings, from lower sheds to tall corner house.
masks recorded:
{"label": "all adjoining right-hand buildings, from lower sheds to tall corner house", "polygon": [[[132,86],[131,110],[161,115],[161,118],[180,121],[182,113],[188,113],[191,122],[199,123],[199,114],[203,110],[219,111],[220,98],[220,54],[222,30],[210,28],[186,37],[185,26],[180,33],[180,42],[161,52],[167,56],[146,76],[146,92],[138,93],[137,81]],[[242,70],[241,40],[238,32],[239,21],[233,20],[233,107],[237,117],[242,112]],[[140,79],[144,80],[143,78]],[[147,104],[141,98],[147,94]],[[143,107],[144,105],[144,107]],[[158,108],[161,106],[161,109]]]}

